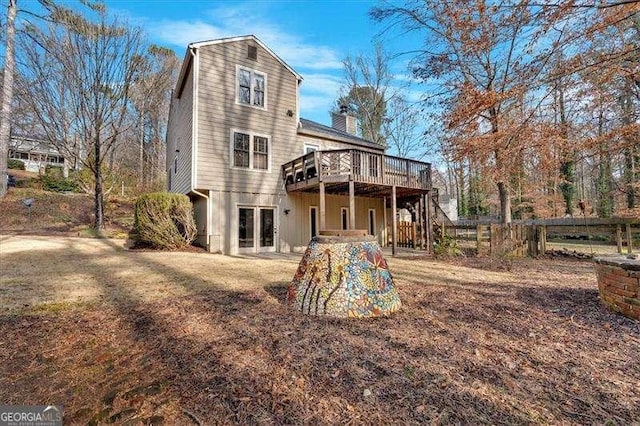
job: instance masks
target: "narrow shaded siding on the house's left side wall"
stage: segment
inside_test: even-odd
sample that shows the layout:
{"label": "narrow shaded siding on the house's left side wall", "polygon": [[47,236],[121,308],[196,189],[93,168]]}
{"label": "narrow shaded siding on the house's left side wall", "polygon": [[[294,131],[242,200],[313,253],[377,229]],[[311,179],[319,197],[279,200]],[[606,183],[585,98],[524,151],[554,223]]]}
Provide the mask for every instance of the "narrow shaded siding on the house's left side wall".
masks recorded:
{"label": "narrow shaded siding on the house's left side wall", "polygon": [[[187,194],[191,190],[193,129],[193,68],[187,76],[180,98],[171,99],[167,125],[167,178],[170,192]],[[180,152],[176,152],[179,150]],[[175,159],[178,171],[175,170]]]}

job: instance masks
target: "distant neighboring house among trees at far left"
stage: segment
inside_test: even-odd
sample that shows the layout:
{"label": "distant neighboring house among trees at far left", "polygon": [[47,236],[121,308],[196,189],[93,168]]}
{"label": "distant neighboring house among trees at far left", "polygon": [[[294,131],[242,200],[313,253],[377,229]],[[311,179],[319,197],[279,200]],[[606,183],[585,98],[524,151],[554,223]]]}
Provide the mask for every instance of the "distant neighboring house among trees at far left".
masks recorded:
{"label": "distant neighboring house among trees at far left", "polygon": [[11,135],[9,158],[21,160],[25,170],[39,172],[46,166],[64,166],[64,156],[41,139]]}

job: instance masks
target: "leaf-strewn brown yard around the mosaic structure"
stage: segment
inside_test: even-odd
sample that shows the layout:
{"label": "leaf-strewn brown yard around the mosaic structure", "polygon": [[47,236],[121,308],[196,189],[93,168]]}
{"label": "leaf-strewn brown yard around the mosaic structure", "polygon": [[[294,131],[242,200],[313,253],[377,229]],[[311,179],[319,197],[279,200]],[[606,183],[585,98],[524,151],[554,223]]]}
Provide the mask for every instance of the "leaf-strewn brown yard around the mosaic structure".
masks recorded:
{"label": "leaf-strewn brown yard around the mosaic structure", "polygon": [[640,324],[593,265],[388,259],[391,318],[289,311],[299,255],[0,237],[0,401],[65,424],[631,424]]}

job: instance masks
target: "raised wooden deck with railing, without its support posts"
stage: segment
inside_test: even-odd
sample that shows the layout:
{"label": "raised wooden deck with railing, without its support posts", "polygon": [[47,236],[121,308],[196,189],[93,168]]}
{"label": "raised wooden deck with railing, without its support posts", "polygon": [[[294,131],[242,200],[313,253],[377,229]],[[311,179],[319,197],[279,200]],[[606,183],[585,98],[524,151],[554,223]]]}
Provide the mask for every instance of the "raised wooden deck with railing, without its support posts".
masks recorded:
{"label": "raised wooden deck with railing, without its support posts", "polygon": [[418,195],[431,189],[431,164],[357,149],[313,151],[282,165],[287,192],[347,194],[354,182],[358,195],[386,196],[396,187],[398,196]]}

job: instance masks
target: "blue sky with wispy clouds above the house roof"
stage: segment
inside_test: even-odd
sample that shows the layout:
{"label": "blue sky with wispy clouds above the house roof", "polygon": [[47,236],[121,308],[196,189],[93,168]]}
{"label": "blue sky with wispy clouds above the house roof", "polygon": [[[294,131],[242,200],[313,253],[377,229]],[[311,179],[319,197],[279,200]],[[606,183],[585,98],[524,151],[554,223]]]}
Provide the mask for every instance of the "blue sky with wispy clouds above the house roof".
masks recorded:
{"label": "blue sky with wispy clouds above the house roof", "polygon": [[[151,1],[107,0],[112,13],[144,28],[151,42],[183,58],[188,43],[255,34],[300,73],[301,114],[324,124],[343,82],[342,60],[367,54],[383,29],[370,20],[375,1]],[[384,40],[385,48],[405,48],[406,39]],[[406,61],[393,65],[399,78]]]}

